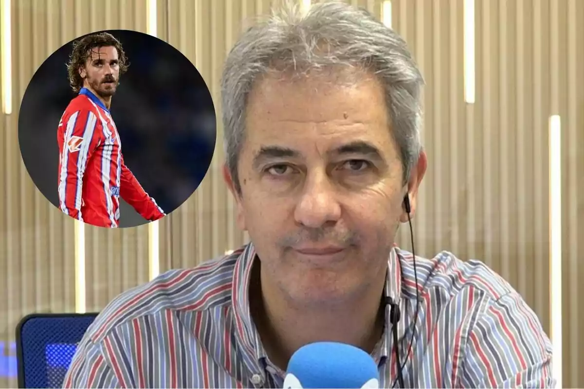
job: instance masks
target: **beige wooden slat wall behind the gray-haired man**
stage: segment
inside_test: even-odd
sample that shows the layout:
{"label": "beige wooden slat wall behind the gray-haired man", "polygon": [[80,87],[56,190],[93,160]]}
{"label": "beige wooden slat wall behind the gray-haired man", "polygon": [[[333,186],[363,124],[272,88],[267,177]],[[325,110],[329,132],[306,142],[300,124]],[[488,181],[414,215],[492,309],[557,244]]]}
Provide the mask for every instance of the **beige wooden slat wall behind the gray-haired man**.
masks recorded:
{"label": "beige wooden slat wall behind the gray-haired man", "polygon": [[[381,0],[351,0],[381,16]],[[158,37],[206,80],[220,117],[221,65],[242,20],[279,1],[157,0]],[[584,386],[584,2],[476,0],[476,102],[464,102],[463,0],[393,0],[392,26],[426,79],[429,171],[416,216],[416,253],[479,258],[524,296],[550,330],[548,117],[562,120],[564,386]],[[33,311],[74,311],[74,222],[42,197],[20,159],[18,105],[38,66],[100,29],[147,29],[147,0],[13,0],[13,113],[0,120],[0,347]],[[218,139],[222,136],[218,123]],[[580,150],[580,152],[578,152]],[[193,267],[243,244],[221,178],[223,146],[199,190],[159,222],[160,269]],[[399,243],[410,248],[402,229]],[[148,279],[148,226],[85,227],[86,308],[99,310]],[[4,353],[4,354],[3,354]],[[13,355],[2,351],[0,356]],[[9,361],[9,362],[7,362]],[[11,358],[0,358],[0,371]],[[0,377],[0,387],[15,379]]]}

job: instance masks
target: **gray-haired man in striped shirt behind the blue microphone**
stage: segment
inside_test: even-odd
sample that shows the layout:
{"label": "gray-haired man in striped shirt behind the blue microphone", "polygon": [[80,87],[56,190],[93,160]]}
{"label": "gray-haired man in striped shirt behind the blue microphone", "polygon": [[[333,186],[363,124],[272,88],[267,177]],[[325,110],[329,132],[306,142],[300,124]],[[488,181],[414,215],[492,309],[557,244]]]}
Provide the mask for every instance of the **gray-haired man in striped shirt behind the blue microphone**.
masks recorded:
{"label": "gray-haired man in striped shirt behind the blue microphone", "polygon": [[281,388],[317,341],[370,353],[385,388],[553,386],[550,342],[507,282],[394,245],[426,171],[422,82],[404,41],[345,3],[247,30],[221,92],[251,243],[117,297],[64,386]]}

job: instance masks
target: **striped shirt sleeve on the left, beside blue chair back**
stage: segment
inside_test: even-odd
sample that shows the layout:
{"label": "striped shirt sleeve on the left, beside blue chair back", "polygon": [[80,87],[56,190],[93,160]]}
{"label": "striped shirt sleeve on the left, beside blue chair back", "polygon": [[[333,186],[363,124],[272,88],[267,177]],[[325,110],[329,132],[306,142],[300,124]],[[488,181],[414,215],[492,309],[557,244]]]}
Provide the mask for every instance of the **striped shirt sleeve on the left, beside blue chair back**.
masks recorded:
{"label": "striped shirt sleeve on the left, beside blue chair back", "polygon": [[63,388],[119,388],[120,383],[99,345],[82,341],[71,360]]}

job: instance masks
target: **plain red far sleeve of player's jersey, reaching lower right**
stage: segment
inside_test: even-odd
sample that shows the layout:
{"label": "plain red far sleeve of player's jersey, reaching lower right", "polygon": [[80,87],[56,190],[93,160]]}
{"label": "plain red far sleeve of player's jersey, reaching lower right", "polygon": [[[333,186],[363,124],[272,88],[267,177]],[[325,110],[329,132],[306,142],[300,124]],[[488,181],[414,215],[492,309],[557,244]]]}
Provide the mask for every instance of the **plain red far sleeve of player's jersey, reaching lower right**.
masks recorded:
{"label": "plain red far sleeve of player's jersey, reaching lower right", "polygon": [[148,195],[128,169],[124,163],[124,157],[121,157],[120,196],[146,220],[152,222],[165,216],[162,208],[156,204],[154,198]]}

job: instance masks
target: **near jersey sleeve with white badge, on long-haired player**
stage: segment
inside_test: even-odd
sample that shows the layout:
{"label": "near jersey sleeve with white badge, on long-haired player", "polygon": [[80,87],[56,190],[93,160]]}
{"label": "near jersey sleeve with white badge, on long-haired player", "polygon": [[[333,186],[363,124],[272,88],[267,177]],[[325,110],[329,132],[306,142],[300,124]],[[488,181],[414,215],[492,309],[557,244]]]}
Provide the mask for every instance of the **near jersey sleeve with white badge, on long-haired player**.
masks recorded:
{"label": "near jersey sleeve with white badge, on long-haired player", "polygon": [[59,123],[59,208],[75,219],[82,220],[83,176],[89,159],[102,142],[103,131],[91,110],[79,110],[63,115]]}

